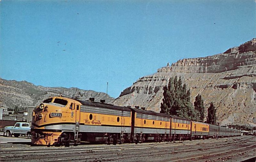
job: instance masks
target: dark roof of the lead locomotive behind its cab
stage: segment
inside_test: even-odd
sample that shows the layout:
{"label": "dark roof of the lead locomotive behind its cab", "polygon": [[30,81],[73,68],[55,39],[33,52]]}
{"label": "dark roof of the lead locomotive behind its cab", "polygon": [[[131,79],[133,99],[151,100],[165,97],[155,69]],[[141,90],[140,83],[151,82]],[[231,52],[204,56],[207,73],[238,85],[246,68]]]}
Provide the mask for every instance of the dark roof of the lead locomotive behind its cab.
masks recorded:
{"label": "dark roof of the lead locomotive behind its cab", "polygon": [[108,108],[108,109],[116,109],[116,110],[123,110],[123,111],[132,111],[131,109],[127,107],[121,107],[121,106],[115,106],[108,103],[100,103],[100,102],[92,102],[92,101],[83,101],[83,100],[77,100],[78,102],[81,102],[83,105],[88,106],[94,106],[94,107],[100,107],[100,108]]}

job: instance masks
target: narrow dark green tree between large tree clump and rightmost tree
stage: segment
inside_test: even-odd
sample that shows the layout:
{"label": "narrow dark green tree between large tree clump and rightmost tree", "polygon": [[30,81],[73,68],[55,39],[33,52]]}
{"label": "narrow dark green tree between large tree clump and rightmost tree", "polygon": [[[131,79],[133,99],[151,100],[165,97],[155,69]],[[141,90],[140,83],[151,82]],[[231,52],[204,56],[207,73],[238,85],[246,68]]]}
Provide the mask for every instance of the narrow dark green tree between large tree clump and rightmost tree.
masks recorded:
{"label": "narrow dark green tree between large tree clump and rightmost tree", "polygon": [[194,102],[194,107],[197,114],[197,119],[200,122],[204,122],[204,100],[202,99],[201,95],[196,96],[196,100]]}

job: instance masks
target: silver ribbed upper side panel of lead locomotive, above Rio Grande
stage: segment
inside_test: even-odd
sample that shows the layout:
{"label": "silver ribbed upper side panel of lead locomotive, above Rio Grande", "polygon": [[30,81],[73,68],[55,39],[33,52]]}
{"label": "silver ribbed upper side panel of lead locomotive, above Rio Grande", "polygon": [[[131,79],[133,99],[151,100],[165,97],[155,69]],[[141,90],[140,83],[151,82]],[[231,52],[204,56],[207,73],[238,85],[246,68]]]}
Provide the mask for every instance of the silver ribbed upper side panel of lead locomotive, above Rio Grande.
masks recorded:
{"label": "silver ribbed upper side panel of lead locomotive, above Rio Grande", "polygon": [[87,112],[87,113],[96,113],[96,114],[106,114],[106,115],[115,115],[115,116],[131,116],[130,111],[122,111],[122,110],[116,110],[116,109],[108,109],[108,108],[100,108],[100,107],[94,107],[94,106],[88,106],[88,105],[82,105],[81,106],[81,112]]}

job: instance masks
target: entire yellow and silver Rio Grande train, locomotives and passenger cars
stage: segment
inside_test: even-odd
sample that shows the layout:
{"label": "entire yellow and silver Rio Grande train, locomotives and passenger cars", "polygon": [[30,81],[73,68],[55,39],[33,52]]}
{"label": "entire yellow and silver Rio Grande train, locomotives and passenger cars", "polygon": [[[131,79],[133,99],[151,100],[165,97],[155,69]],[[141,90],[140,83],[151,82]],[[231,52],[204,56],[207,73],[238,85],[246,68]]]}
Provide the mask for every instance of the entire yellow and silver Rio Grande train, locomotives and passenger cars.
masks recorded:
{"label": "entire yellow and silver Rio Grande train, locomotives and passenger cars", "polygon": [[131,107],[48,98],[33,111],[31,142],[66,145],[205,139],[239,136],[241,131]]}

